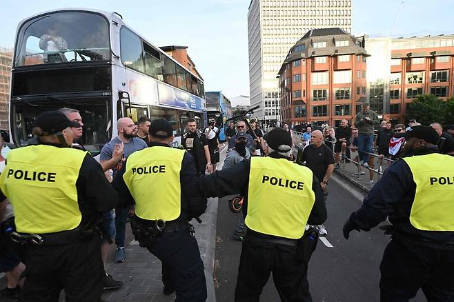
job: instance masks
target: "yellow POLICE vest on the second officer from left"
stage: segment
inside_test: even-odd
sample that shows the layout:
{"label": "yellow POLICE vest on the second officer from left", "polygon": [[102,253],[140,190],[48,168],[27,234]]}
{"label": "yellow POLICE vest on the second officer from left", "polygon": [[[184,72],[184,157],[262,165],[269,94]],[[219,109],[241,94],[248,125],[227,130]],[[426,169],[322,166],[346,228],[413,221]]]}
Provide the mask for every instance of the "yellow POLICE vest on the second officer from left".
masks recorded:
{"label": "yellow POLICE vest on the second officer from left", "polygon": [[175,220],[181,212],[180,171],[185,150],[155,146],[132,153],[123,179],[141,219]]}

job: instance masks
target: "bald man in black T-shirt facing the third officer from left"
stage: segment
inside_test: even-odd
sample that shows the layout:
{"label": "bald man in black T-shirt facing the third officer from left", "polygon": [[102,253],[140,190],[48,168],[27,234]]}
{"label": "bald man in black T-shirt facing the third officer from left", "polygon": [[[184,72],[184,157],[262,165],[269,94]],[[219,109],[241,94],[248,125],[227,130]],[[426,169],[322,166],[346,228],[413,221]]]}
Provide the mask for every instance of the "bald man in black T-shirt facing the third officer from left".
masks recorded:
{"label": "bald man in black T-shirt facing the third officer from left", "polygon": [[[334,170],[334,156],[333,150],[324,145],[322,141],[322,131],[313,131],[310,136],[310,145],[304,148],[302,158],[298,163],[300,165],[305,163],[306,167],[313,172],[320,181],[326,196],[328,194],[326,185],[328,185],[328,180]],[[316,228],[321,235],[328,234],[324,225],[317,225]]]}

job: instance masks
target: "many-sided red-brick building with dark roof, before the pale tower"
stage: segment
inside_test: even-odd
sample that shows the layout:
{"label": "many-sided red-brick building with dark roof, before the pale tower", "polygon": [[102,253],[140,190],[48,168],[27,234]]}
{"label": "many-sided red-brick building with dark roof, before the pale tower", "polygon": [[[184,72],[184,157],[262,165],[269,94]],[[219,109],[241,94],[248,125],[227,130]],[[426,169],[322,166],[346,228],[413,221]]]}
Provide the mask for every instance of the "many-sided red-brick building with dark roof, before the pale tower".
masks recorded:
{"label": "many-sided red-brick building with dark roof, before the pale tower", "polygon": [[310,30],[279,70],[282,119],[313,125],[352,121],[366,100],[364,38],[340,28]]}

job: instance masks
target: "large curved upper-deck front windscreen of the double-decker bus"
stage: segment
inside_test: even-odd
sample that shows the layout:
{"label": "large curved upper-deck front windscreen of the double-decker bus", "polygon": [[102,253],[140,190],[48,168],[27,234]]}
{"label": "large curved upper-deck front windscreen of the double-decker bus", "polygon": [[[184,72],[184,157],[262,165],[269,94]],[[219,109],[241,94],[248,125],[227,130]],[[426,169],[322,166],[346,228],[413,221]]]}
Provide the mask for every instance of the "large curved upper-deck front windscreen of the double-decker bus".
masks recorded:
{"label": "large curved upper-deck front windscreen of the double-decker bus", "polygon": [[23,23],[14,66],[109,59],[105,18],[92,12],[53,12]]}

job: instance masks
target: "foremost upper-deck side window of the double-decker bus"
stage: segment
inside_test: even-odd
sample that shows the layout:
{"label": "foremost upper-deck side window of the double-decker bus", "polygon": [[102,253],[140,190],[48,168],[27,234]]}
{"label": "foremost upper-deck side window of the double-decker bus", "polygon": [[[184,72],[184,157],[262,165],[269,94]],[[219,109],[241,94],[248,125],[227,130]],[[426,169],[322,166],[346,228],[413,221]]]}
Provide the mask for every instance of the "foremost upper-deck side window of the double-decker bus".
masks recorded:
{"label": "foremost upper-deck side window of the double-decker bus", "polygon": [[139,36],[125,26],[120,30],[120,57],[124,66],[145,73],[142,43]]}

